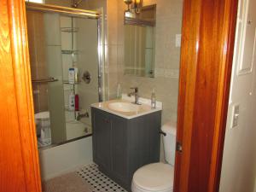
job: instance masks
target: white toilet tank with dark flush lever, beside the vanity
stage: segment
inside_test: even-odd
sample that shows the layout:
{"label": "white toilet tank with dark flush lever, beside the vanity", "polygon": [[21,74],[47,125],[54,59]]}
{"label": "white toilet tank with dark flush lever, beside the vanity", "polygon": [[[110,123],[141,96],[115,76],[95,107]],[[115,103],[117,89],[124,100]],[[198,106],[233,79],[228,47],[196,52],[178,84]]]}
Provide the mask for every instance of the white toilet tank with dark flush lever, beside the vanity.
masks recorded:
{"label": "white toilet tank with dark flush lever, beside the vanity", "polygon": [[166,133],[166,136],[163,137],[166,162],[174,166],[177,124],[168,122],[162,125],[161,129]]}

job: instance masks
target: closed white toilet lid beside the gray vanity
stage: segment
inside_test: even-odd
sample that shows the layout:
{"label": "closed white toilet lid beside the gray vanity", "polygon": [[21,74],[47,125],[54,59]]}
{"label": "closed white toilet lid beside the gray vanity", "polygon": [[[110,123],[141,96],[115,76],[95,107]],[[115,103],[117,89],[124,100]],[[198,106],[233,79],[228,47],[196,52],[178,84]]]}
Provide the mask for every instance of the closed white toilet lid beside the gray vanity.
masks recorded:
{"label": "closed white toilet lid beside the gray vanity", "polygon": [[163,163],[154,163],[139,168],[133,175],[133,183],[148,191],[173,189],[174,169]]}

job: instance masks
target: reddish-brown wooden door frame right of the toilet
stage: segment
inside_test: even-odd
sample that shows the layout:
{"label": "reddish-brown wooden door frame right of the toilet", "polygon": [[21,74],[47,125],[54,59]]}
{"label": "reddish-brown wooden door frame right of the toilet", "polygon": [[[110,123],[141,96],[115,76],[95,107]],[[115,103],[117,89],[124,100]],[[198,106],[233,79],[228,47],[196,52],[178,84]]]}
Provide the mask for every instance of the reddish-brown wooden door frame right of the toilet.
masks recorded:
{"label": "reddish-brown wooden door frame right of the toilet", "polygon": [[175,192],[218,192],[238,0],[184,0]]}

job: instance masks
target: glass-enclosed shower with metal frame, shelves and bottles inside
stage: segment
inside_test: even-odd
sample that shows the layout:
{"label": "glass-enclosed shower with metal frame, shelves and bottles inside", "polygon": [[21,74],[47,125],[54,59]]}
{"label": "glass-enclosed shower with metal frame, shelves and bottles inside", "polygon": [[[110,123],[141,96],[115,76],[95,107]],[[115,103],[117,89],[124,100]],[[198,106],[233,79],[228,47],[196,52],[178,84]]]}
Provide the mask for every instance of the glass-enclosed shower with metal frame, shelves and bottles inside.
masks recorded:
{"label": "glass-enclosed shower with metal frame, shelves and bottles inside", "polygon": [[90,104],[102,101],[101,15],[26,3],[26,19],[38,148],[90,137]]}

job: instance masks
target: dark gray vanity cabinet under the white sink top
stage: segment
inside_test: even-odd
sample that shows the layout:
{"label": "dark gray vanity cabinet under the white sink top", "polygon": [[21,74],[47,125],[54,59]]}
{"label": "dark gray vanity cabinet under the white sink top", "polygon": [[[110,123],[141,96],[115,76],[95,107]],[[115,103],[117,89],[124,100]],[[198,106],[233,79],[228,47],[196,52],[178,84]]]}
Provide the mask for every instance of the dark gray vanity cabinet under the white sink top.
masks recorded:
{"label": "dark gray vanity cabinet under the white sink top", "polygon": [[93,160],[99,169],[131,190],[133,173],[160,160],[161,112],[125,119],[91,108]]}

